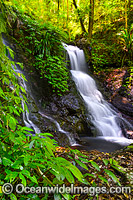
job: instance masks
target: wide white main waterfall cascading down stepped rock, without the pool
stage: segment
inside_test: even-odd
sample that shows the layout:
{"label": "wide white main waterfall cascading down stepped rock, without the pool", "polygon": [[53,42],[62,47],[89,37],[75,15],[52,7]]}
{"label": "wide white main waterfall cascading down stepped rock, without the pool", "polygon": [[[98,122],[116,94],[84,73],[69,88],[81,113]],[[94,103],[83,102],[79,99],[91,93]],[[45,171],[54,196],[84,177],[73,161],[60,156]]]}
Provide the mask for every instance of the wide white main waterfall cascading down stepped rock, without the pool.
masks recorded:
{"label": "wide white main waterfall cascading down stepped rock, without the pool", "polygon": [[91,116],[91,121],[98,135],[121,137],[119,116],[104,100],[94,79],[87,74],[83,50],[71,45],[63,44],[63,46],[70,58],[72,79],[85,102],[88,115]]}

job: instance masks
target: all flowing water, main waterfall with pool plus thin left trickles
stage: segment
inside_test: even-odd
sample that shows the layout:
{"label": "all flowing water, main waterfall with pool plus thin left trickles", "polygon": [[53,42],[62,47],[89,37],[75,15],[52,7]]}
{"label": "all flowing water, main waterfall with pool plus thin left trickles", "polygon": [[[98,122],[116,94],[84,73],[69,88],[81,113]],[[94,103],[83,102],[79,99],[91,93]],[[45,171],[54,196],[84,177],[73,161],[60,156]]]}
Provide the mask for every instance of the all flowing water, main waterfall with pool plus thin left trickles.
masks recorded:
{"label": "all flowing water, main waterfall with pool plus thin left trickles", "polygon": [[[9,43],[4,39],[3,43],[9,46]],[[97,149],[103,152],[111,152],[133,143],[133,140],[125,137],[126,134],[121,128],[121,123],[125,124],[125,127],[129,127],[130,130],[133,129],[132,125],[120,117],[119,114],[104,100],[103,95],[97,89],[94,79],[88,74],[83,50],[71,45],[63,44],[63,46],[69,55],[72,79],[85,104],[88,118],[95,127],[96,135],[95,137],[88,137],[88,134],[86,133],[86,136],[80,137],[80,142],[77,142],[70,132],[61,128],[61,125],[53,118],[53,116],[44,113],[40,108],[38,109],[38,114],[42,118],[51,121],[58,132],[66,135],[70,146],[75,146],[74,148],[86,150]],[[8,57],[10,58],[10,55],[8,55]],[[15,65],[13,69],[15,72],[26,76],[27,79],[28,75],[19,67],[19,65]],[[34,99],[28,81],[25,81],[23,76],[18,76],[18,82],[19,85],[25,89],[27,99],[29,97]],[[21,93],[20,96],[22,96]],[[24,104],[25,102],[23,100],[23,110]],[[27,105],[27,107],[29,107],[29,105]],[[29,112],[23,112],[22,117],[25,126],[33,129],[33,135],[41,132],[40,127],[31,120],[30,109]]]}

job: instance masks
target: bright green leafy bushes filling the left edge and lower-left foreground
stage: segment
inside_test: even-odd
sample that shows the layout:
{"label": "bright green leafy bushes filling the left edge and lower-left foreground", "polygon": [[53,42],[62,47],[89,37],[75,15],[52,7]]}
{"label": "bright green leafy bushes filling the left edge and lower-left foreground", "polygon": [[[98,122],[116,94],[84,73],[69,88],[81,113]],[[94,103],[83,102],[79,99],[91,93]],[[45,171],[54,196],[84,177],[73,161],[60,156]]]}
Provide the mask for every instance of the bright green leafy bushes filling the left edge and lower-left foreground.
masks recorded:
{"label": "bright green leafy bushes filling the left edge and lower-left foreground", "polygon": [[[2,26],[3,27],[3,26]],[[3,28],[1,32],[3,32]],[[69,161],[55,157],[56,141],[50,139],[49,133],[40,133],[32,136],[29,128],[18,124],[16,118],[24,112],[21,108],[20,91],[24,88],[18,85],[16,73],[12,69],[13,61],[6,57],[6,47],[2,43],[0,35],[0,183],[10,182],[15,186],[22,183],[24,186],[54,186],[55,183],[62,184],[64,179],[69,180],[71,175],[82,181],[83,175]],[[8,48],[8,47],[7,47]],[[11,55],[13,52],[8,48]],[[26,137],[26,134],[29,136]],[[64,168],[67,172],[64,174]],[[54,178],[51,179],[53,174]],[[40,182],[40,177],[42,181]],[[50,177],[50,178],[49,178]],[[0,194],[4,199],[4,194]],[[18,195],[19,196],[19,195]],[[33,194],[29,195],[32,199]],[[15,194],[8,198],[17,199]],[[37,199],[37,198],[36,198]]]}

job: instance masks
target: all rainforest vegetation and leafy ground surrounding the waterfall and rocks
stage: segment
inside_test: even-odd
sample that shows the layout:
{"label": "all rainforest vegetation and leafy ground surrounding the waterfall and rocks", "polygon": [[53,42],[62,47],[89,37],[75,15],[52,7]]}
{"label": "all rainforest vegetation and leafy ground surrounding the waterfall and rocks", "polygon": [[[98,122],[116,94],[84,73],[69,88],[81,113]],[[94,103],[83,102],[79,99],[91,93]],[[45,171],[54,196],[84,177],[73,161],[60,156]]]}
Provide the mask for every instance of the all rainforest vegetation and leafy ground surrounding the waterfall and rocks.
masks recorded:
{"label": "all rainforest vegetation and leafy ground surrounding the waterfall and rocks", "polygon": [[131,103],[132,14],[131,0],[0,0],[1,200],[132,198],[127,193],[47,194],[39,188],[36,193],[19,194],[2,187],[4,183],[13,188],[17,184],[36,188],[57,184],[107,189],[131,186],[132,145],[110,154],[79,151],[60,147],[51,133],[33,136],[30,128],[19,123],[22,113],[28,111],[28,101],[17,77],[25,77],[13,70],[15,53],[3,44],[2,36],[22,49],[25,59],[17,64],[21,68],[29,65],[31,72],[36,71],[47,81],[51,93],[63,96],[69,92],[65,42],[84,49],[89,70],[110,91],[109,101],[119,93]]}

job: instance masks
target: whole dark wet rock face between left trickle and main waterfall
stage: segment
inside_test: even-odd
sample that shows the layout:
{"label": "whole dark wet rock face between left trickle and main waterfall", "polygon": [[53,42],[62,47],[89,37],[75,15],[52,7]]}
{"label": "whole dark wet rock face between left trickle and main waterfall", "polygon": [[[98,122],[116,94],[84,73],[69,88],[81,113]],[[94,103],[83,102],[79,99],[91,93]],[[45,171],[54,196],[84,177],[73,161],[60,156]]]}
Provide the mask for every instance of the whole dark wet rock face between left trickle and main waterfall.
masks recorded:
{"label": "whole dark wet rock face between left trickle and main waterfall", "polygon": [[[15,61],[27,63],[27,58],[16,44],[9,42],[15,51]],[[92,135],[90,124],[86,120],[86,109],[82,97],[76,90],[76,86],[69,78],[69,91],[58,96],[53,93],[47,80],[40,79],[39,74],[33,67],[24,64],[23,74],[27,79],[27,100],[30,110],[30,119],[38,126],[41,132],[49,132],[62,146],[70,145],[67,136],[58,130],[57,125],[39,114],[39,111],[56,120],[61,129],[70,132],[76,140],[79,135]]]}

